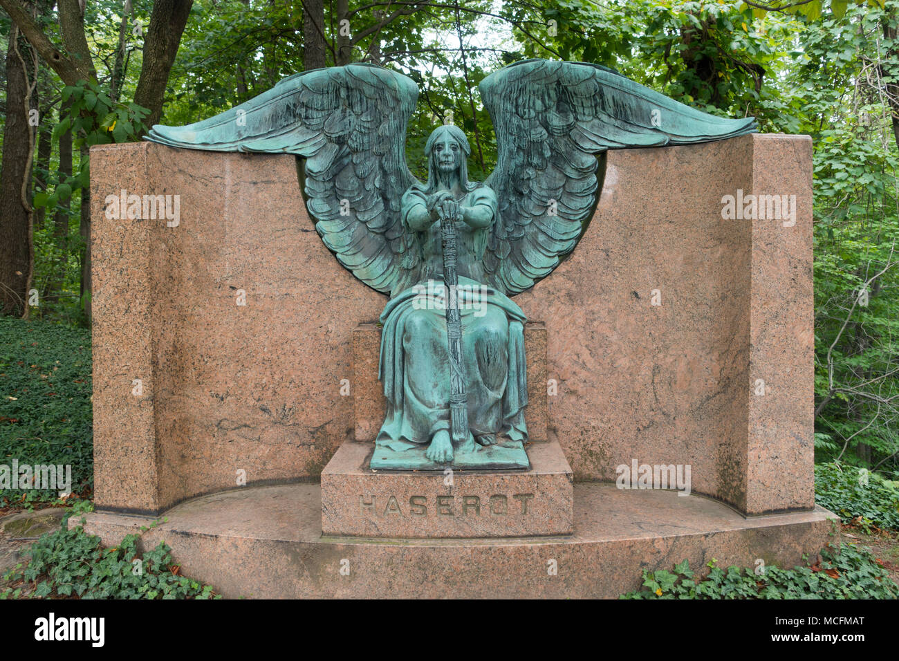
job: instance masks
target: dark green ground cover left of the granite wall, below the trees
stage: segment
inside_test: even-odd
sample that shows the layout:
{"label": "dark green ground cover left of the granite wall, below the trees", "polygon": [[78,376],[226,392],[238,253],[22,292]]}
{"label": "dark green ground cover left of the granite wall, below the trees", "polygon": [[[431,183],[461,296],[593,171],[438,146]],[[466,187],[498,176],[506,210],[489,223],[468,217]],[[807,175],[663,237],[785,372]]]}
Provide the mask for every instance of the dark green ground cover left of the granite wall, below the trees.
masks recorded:
{"label": "dark green ground cover left of the granite wall, below the trees", "polygon": [[[0,464],[70,465],[72,490],[93,485],[91,336],[46,321],[0,317]],[[0,505],[55,500],[0,489]]]}

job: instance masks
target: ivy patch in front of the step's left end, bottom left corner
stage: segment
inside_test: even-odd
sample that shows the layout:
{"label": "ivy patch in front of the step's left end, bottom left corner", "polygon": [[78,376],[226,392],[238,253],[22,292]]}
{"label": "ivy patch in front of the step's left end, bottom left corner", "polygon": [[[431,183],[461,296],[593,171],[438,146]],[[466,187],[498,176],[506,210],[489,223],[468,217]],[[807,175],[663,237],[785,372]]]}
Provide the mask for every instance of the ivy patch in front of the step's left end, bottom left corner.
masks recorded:
{"label": "ivy patch in front of the step's left end, bottom left corner", "polygon": [[[115,549],[103,549],[100,538],[81,526],[41,535],[31,545],[27,564],[4,576],[34,586],[29,596],[82,599],[210,599],[219,598],[210,585],[178,576],[171,550],[164,541],[138,552],[139,535],[128,535]],[[7,587],[2,598],[19,597],[21,588]]]}

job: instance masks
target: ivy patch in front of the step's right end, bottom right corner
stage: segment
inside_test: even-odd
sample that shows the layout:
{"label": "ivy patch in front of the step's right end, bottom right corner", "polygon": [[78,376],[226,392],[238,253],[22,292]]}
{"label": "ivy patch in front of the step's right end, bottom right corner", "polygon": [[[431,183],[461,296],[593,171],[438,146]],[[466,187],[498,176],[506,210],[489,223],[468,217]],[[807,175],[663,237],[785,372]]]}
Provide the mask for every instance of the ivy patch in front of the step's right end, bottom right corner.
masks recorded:
{"label": "ivy patch in front of the step's right end, bottom right corner", "polygon": [[752,569],[717,567],[707,563],[705,576],[696,576],[684,560],[673,571],[643,572],[642,590],[622,599],[897,599],[899,585],[870,551],[855,544],[821,550],[822,560],[806,567],[780,569],[773,565]]}

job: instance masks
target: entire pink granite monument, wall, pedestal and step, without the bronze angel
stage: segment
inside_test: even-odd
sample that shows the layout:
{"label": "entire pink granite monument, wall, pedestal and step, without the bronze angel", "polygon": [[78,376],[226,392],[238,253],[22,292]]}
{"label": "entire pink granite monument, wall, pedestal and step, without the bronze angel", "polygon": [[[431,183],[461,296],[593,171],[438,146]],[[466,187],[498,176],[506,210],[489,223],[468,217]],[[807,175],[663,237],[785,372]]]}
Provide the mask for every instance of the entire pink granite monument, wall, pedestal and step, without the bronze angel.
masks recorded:
{"label": "entire pink granite monument, wall, pedestal and step, without the bronze angel", "polygon": [[530,469],[449,474],[368,468],[387,297],[316,235],[294,156],[91,159],[105,542],[165,513],[145,543],[227,596],[537,597],[827,541],[810,138],[610,152],[574,253],[515,299]]}

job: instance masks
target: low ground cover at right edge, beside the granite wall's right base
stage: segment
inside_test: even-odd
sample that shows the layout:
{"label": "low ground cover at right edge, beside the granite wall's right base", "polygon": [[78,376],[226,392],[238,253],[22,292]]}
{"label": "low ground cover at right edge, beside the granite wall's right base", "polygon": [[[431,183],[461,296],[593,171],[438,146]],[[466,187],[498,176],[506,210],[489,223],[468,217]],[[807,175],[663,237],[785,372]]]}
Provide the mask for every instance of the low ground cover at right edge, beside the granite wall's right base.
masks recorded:
{"label": "low ground cover at right edge, beside the granite wall's right base", "polygon": [[873,524],[899,530],[899,482],[868,469],[835,462],[818,464],[814,467],[814,499],[838,514],[843,523],[858,519],[863,527]]}

